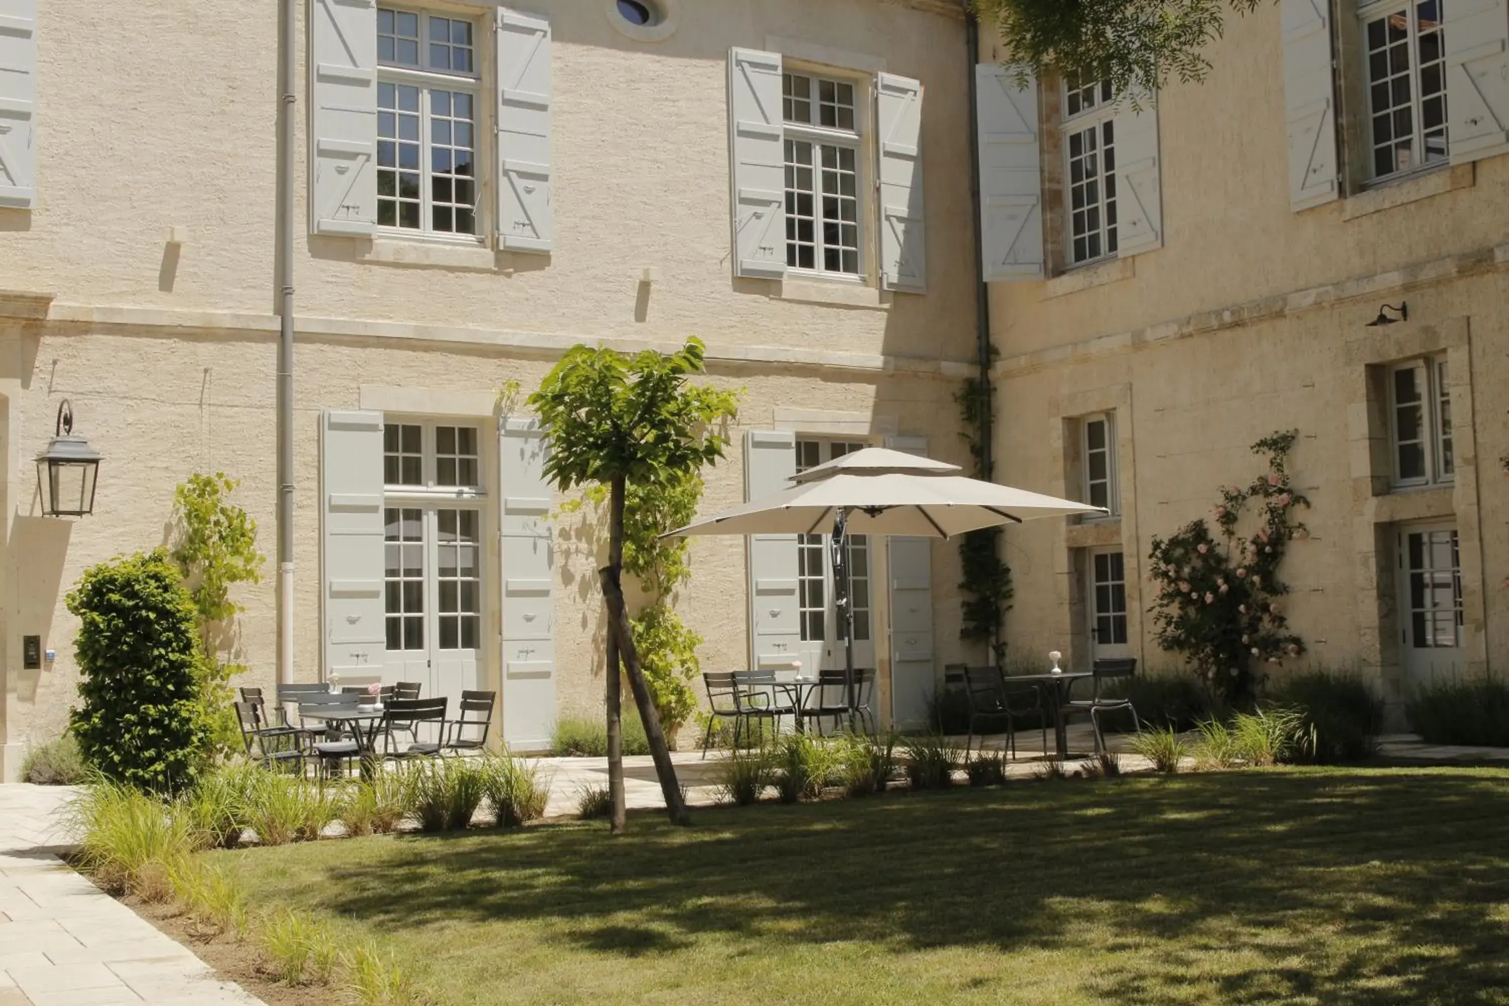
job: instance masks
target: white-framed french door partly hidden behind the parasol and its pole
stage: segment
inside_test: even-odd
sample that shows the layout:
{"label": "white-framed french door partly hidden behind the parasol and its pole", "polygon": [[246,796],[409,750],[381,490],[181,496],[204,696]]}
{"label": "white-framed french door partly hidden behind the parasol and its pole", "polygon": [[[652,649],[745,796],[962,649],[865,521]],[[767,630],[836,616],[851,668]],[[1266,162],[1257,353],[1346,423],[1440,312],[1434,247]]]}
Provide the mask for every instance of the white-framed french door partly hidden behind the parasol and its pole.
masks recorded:
{"label": "white-framed french door partly hidden behind the parasol and its pole", "polygon": [[[804,472],[851,454],[865,443],[854,440],[797,440],[797,471]],[[801,627],[801,670],[844,670],[844,624],[833,605],[833,535],[797,537],[797,605]],[[850,600],[854,606],[854,667],[875,667],[875,626],[871,594],[872,541],[848,535],[847,566]]]}

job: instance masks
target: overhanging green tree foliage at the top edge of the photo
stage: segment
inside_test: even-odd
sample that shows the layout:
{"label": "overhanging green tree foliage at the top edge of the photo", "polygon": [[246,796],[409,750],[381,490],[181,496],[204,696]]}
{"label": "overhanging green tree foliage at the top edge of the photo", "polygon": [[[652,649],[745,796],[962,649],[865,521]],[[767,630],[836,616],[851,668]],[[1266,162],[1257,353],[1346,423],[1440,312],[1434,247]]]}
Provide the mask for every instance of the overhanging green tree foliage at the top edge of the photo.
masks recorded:
{"label": "overhanging green tree foliage at the top edge of the photo", "polygon": [[1034,74],[1109,80],[1117,94],[1147,94],[1168,80],[1200,81],[1204,48],[1231,14],[1263,0],[970,0],[1000,35],[1000,62]]}

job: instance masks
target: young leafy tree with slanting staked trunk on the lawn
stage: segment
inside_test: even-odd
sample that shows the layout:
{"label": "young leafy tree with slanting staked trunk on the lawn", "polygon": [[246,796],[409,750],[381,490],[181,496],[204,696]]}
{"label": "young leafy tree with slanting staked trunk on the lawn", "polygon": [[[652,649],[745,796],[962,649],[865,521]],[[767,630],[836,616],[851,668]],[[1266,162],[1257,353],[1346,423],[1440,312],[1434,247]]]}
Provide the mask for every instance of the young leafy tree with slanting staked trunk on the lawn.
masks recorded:
{"label": "young leafy tree with slanting staked trunk on the lawn", "polygon": [[735,415],[736,395],[690,383],[688,379],[702,370],[703,344],[699,339],[688,339],[675,353],[646,350],[634,356],[575,345],[528,398],[549,437],[545,477],[563,492],[579,486],[608,489],[608,566],[598,575],[608,612],[604,691],[614,833],[622,833],[626,824],[620,662],[655,757],[665,808],[673,822],[687,824],[687,804],[625,609],[623,519],[629,486],[653,493],[656,486],[678,484],[723,457],[727,439],[720,425]]}

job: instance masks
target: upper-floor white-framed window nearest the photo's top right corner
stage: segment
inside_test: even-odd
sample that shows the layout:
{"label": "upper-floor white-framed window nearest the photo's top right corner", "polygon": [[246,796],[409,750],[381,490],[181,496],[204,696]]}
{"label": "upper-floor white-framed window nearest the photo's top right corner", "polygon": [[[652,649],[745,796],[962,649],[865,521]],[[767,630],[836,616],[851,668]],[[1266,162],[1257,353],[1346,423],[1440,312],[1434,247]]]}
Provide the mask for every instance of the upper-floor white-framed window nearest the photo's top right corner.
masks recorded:
{"label": "upper-floor white-framed window nearest the photo's top right corner", "polygon": [[1446,0],[1358,5],[1367,50],[1373,178],[1447,160],[1443,3]]}

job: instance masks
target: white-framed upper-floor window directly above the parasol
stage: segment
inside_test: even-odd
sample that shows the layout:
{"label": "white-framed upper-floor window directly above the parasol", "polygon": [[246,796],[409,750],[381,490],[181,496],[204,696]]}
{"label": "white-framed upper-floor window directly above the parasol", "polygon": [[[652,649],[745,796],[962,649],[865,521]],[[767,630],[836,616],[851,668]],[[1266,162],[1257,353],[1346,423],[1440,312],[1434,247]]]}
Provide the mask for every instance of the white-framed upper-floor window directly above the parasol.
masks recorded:
{"label": "white-framed upper-floor window directly above the parasol", "polygon": [[786,149],[786,265],[860,276],[860,134],[851,80],[782,78]]}

